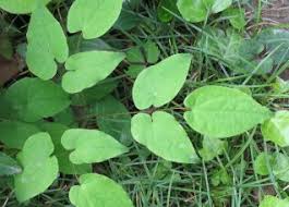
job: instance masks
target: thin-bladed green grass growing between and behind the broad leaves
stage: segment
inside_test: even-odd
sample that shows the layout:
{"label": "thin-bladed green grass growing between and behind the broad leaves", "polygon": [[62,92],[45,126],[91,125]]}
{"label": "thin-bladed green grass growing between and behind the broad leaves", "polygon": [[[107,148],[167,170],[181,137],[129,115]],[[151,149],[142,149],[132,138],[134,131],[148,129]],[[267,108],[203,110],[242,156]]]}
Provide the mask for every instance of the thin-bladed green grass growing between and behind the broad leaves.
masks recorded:
{"label": "thin-bladed green grass growing between and behind the broad leaves", "polygon": [[[255,31],[246,31],[246,35],[262,29],[253,27],[254,24],[262,21],[261,10],[264,2],[258,2],[260,4],[255,11],[257,16],[248,20]],[[141,19],[141,24],[137,27],[132,32],[112,32],[103,39],[108,44],[121,46],[122,48],[140,45],[150,39],[158,45],[161,58],[177,52],[194,54],[192,70],[185,87],[174,101],[165,106],[162,110],[173,113],[197,148],[202,146],[202,136],[193,132],[182,119],[182,113],[185,110],[182,100],[194,88],[213,84],[238,87],[251,92],[253,97],[267,105],[272,110],[289,109],[289,95],[276,94],[270,90],[276,77],[288,70],[288,62],[277,66],[276,71],[268,75],[233,75],[228,71],[221,57],[210,57],[203,51],[203,48],[195,45],[201,34],[209,36],[204,31],[207,25],[226,29],[229,27],[227,21],[215,15],[203,24],[190,24],[181,16],[173,14],[176,21],[171,24],[164,24],[158,21],[156,9],[157,4],[154,1],[143,2],[139,9],[141,12],[134,13]],[[64,16],[68,4],[61,2],[52,10],[62,25],[65,25]],[[11,20],[11,24],[16,25],[22,32],[15,37],[17,41],[22,42],[24,40],[23,32],[27,27],[27,17],[11,16],[3,12],[1,12],[1,16]],[[218,39],[214,40],[218,41]],[[118,70],[115,77],[120,78],[121,83],[113,95],[125,105],[132,114],[136,113],[131,98],[133,80],[124,74],[124,68]],[[77,119],[82,120],[80,117]],[[83,123],[95,123],[94,115],[84,114],[83,119]],[[145,147],[134,143],[131,146],[130,154],[108,162],[95,165],[94,171],[106,174],[122,184],[136,207],[256,207],[258,200],[265,194],[277,194],[280,197],[287,197],[288,183],[277,181],[272,172],[268,176],[261,176],[254,172],[253,166],[260,153],[282,151],[286,156],[289,156],[288,148],[279,148],[272,143],[265,143],[258,127],[241,136],[229,138],[228,143],[229,147],[224,155],[216,157],[214,160],[185,166],[157,158]],[[214,186],[212,179],[216,178],[216,171],[219,170],[228,174],[229,181],[225,183],[220,181],[219,185]],[[219,180],[221,179],[224,179],[222,175]],[[77,176],[60,175],[52,187],[22,206],[69,206],[69,187],[76,182]],[[2,207],[21,206],[8,185],[0,186],[2,186],[0,188],[0,205]]]}

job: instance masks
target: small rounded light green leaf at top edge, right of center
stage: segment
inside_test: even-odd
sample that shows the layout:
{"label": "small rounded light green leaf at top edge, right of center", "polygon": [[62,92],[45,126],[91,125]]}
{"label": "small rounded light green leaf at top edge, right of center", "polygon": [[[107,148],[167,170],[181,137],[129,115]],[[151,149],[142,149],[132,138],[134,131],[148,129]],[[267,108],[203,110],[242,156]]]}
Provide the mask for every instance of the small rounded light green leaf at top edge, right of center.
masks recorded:
{"label": "small rounded light green leaf at top edge, right of center", "polygon": [[206,20],[209,13],[204,0],[178,0],[177,5],[183,19],[193,23]]}

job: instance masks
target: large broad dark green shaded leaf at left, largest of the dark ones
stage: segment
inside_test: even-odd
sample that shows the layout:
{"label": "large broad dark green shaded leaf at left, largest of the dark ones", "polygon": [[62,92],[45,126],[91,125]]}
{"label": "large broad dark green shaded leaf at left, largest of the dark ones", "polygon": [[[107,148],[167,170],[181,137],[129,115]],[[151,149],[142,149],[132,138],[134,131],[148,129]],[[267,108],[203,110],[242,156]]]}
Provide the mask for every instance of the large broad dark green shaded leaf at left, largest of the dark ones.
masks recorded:
{"label": "large broad dark green shaded leaf at left, largest of the dark ones", "polygon": [[4,95],[11,115],[27,122],[52,117],[70,105],[69,96],[52,81],[25,77]]}

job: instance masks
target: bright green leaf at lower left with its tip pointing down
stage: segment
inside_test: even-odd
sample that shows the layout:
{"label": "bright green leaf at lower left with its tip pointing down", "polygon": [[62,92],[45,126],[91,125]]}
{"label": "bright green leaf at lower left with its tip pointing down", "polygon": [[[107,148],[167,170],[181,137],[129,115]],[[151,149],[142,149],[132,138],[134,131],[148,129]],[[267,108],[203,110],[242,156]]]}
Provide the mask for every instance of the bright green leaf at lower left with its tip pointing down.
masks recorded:
{"label": "bright green leaf at lower left with its tip pointing down", "polygon": [[31,136],[17,155],[24,170],[14,178],[15,194],[19,202],[25,202],[43,192],[57,179],[58,161],[53,143],[48,133]]}

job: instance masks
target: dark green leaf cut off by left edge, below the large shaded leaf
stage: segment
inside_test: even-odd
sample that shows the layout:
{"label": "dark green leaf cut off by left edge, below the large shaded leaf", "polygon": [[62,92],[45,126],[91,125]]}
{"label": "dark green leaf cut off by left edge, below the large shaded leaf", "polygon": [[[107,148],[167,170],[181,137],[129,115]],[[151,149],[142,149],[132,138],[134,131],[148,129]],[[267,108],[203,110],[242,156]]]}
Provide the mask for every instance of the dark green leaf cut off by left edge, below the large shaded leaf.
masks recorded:
{"label": "dark green leaf cut off by left edge, below the large shaded leaf", "polygon": [[31,123],[10,120],[0,122],[0,141],[9,148],[22,149],[25,141],[37,132],[40,130]]}

